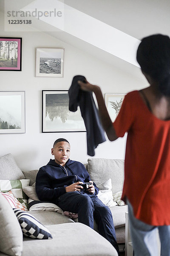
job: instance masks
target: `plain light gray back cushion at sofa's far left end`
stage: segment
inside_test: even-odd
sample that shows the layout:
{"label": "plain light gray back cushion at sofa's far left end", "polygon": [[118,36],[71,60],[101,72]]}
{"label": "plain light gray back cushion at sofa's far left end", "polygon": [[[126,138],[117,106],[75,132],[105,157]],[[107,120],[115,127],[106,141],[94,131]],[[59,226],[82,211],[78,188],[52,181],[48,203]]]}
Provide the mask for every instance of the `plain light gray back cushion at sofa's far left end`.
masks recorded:
{"label": "plain light gray back cushion at sofa's far left end", "polygon": [[6,154],[0,157],[0,179],[1,180],[19,180],[25,179],[23,172],[17,166],[14,157]]}

